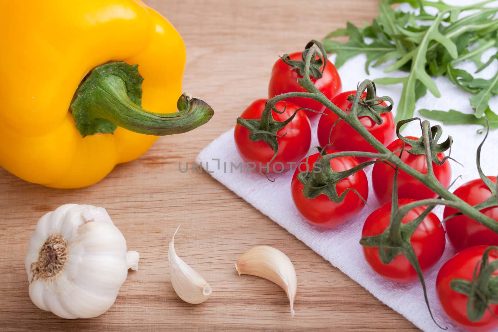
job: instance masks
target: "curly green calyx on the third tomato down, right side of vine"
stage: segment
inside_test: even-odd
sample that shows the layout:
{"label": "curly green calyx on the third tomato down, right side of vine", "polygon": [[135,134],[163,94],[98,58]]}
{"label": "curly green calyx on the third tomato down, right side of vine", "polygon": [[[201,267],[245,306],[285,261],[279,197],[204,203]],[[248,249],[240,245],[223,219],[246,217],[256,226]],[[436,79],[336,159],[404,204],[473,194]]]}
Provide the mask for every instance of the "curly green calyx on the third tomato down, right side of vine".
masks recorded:
{"label": "curly green calyx on the third tomato down, right side of vine", "polygon": [[[441,135],[443,134],[443,128],[439,124],[431,126],[429,134],[422,135],[419,139],[407,138],[401,135],[401,133],[399,132],[401,127],[404,124],[414,120],[418,120],[420,122],[420,127],[422,127],[422,131],[423,131],[424,122],[428,123],[427,121],[422,121],[419,117],[413,117],[411,119],[398,121],[398,123],[396,124],[396,136],[398,136],[400,140],[411,146],[410,150],[404,150],[404,151],[408,152],[409,154],[415,154],[415,155],[421,155],[421,154],[430,155],[432,162],[439,166],[444,164],[444,162],[447,159],[452,159],[453,161],[456,161],[455,159],[450,157],[451,145],[453,144],[453,137],[448,136],[448,138],[444,142],[438,143],[439,138],[441,138]],[[425,144],[426,140],[428,140],[429,144]],[[439,160],[438,153],[445,152],[446,150],[449,150],[448,155],[445,156],[443,160]]]}

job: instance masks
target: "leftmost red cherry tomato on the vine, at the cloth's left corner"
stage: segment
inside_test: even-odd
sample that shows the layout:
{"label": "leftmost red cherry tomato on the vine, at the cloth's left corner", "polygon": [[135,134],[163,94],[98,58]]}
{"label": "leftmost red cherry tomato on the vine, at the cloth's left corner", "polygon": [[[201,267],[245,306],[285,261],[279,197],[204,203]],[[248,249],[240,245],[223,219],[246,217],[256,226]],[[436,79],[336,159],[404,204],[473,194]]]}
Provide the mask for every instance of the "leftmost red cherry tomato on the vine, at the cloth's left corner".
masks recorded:
{"label": "leftmost red cherry tomato on the vine, at the cloth's left corner", "polygon": [[[242,112],[241,117],[244,119],[259,119],[264,110],[264,104],[267,99],[259,99],[253,102]],[[284,102],[278,102],[276,109],[283,111]],[[288,119],[298,107],[287,102],[285,112],[277,113],[272,111],[273,119],[284,121]],[[296,116],[285,127],[277,131],[278,135],[284,135],[277,138],[278,153],[275,159],[270,163],[268,173],[281,172],[292,166],[291,163],[300,162],[308,153],[311,146],[311,125],[308,117],[303,111],[298,111]],[[256,169],[266,167],[267,163],[274,155],[274,151],[262,140],[253,142],[249,139],[249,130],[237,124],[235,126],[235,143],[242,159],[246,162],[254,162]],[[263,169],[263,172],[265,169]]]}

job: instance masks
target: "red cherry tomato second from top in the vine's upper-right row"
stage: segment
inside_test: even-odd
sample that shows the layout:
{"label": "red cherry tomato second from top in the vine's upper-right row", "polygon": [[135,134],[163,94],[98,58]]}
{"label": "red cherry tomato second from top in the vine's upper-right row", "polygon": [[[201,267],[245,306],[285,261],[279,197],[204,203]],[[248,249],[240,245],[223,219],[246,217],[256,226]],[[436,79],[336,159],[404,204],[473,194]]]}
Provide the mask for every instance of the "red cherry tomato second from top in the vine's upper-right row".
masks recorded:
{"label": "red cherry tomato second from top in the vine's upper-right row", "polygon": [[[332,103],[335,104],[341,110],[349,113],[353,103],[348,101],[348,96],[355,95],[356,91],[347,91],[340,93],[334,99]],[[363,94],[363,98],[367,96],[367,93]],[[386,106],[385,103],[382,105]],[[321,146],[325,146],[332,143],[332,148],[339,151],[365,151],[365,152],[377,152],[370,145],[369,142],[365,140],[352,126],[350,126],[345,121],[339,121],[334,126],[334,123],[339,119],[333,111],[325,109],[324,113],[327,116],[320,117],[320,122],[318,123],[318,141]],[[382,118],[381,124],[376,124],[369,116],[361,116],[360,122],[365,128],[382,144],[387,146],[390,142],[396,138],[396,131],[394,130],[394,117],[391,112],[381,113]],[[334,129],[331,132],[332,126]],[[330,135],[330,141],[329,141]],[[367,160],[373,160],[368,158],[357,157],[361,162]]]}

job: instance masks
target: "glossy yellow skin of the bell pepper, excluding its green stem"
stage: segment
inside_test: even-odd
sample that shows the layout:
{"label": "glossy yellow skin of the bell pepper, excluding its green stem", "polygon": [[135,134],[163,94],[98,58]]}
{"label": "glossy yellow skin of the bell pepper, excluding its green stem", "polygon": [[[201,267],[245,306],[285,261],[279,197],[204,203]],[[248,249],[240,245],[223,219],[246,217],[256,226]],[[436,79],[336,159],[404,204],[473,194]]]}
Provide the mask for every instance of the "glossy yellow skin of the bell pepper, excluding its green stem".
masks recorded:
{"label": "glossy yellow skin of the bell pepper, excluding its green stem", "polygon": [[[4,7],[5,8],[5,7]],[[157,136],[118,127],[82,137],[68,111],[85,75],[138,64],[142,107],[176,111],[185,45],[139,0],[9,1],[0,13],[0,166],[54,188],[80,188],[145,153]]]}

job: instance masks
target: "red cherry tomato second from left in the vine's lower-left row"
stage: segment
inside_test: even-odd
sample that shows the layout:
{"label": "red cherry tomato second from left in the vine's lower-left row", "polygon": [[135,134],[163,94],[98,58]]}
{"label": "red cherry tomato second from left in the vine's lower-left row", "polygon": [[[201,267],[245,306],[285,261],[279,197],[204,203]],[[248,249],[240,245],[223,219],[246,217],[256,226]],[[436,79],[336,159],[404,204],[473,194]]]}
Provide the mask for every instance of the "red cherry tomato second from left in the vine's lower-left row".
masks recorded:
{"label": "red cherry tomato second from left in the vine's lower-left row", "polygon": [[[337,151],[327,151],[333,153]],[[365,206],[365,202],[358,197],[353,191],[346,194],[344,200],[340,203],[332,202],[326,195],[321,194],[316,198],[308,199],[303,195],[304,185],[297,179],[297,175],[306,170],[313,170],[313,164],[317,160],[319,153],[311,155],[306,163],[306,158],[298,165],[291,182],[291,193],[297,210],[310,223],[324,227],[333,228],[343,224],[352,217],[356,216]],[[354,157],[333,158],[330,161],[332,170],[341,172],[358,165],[358,160]],[[307,165],[307,166],[306,166]],[[308,168],[307,168],[308,167]],[[365,201],[369,196],[369,185],[367,176],[363,170],[339,181],[336,186],[337,193],[341,196],[346,189],[355,189]]]}

